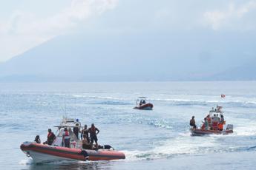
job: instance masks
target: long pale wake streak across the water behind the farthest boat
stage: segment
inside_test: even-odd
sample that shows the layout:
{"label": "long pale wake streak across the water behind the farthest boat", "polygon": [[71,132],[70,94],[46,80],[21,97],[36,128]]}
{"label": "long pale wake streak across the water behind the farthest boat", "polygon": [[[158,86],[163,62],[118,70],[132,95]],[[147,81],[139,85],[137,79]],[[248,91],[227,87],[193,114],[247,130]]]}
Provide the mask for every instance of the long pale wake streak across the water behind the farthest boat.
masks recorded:
{"label": "long pale wake streak across the water behind the farthest boat", "polygon": [[[106,105],[128,105],[133,104],[137,97],[128,96],[127,98],[116,97],[111,95],[69,95],[74,98],[86,98],[88,100],[102,100],[99,104]],[[226,98],[219,98],[213,95],[174,95],[170,98],[148,98],[148,101],[152,103],[169,103],[174,106],[215,106],[227,105],[227,106],[239,106],[243,108],[256,108],[256,98],[254,96],[228,96]],[[113,103],[112,103],[113,102]]]}

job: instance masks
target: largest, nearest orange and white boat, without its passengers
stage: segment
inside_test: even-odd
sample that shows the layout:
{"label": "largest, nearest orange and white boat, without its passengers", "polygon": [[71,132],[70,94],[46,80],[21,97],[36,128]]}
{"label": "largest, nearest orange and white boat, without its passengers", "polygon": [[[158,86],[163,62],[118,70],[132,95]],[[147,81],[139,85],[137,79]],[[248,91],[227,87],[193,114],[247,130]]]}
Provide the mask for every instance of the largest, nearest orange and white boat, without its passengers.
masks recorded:
{"label": "largest, nearest orange and white boat, without its passengers", "polygon": [[[20,146],[22,152],[31,157],[35,163],[56,162],[60,160],[120,160],[125,159],[125,154],[116,152],[111,146],[102,149],[82,149],[82,141],[76,135],[70,135],[70,148],[62,146],[62,132],[65,127],[77,125],[77,121],[64,118],[58,127],[56,140],[51,146],[42,143],[24,142]],[[80,123],[79,123],[80,126]],[[106,148],[106,149],[105,149]]]}

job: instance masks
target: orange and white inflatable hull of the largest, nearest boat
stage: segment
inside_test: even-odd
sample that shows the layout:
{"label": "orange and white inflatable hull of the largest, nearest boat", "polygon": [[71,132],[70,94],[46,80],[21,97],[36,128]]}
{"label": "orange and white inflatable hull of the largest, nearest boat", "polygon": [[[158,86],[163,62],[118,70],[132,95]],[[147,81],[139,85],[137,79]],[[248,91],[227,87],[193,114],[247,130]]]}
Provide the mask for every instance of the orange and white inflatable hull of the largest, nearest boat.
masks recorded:
{"label": "orange and white inflatable hull of the largest, nearest boat", "polygon": [[20,148],[35,163],[55,162],[60,160],[119,160],[125,154],[106,149],[70,149],[59,146],[48,146],[39,143],[23,143]]}

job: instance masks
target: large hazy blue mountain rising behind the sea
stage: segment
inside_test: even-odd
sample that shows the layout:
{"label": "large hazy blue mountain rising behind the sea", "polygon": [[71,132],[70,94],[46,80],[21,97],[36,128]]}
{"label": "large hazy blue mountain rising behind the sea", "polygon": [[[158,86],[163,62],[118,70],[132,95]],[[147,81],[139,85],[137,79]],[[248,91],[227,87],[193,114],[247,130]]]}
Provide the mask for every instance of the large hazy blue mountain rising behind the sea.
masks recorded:
{"label": "large hazy blue mountain rising behind the sea", "polygon": [[255,62],[242,67],[255,40],[213,31],[65,35],[1,63],[0,81],[256,80]]}

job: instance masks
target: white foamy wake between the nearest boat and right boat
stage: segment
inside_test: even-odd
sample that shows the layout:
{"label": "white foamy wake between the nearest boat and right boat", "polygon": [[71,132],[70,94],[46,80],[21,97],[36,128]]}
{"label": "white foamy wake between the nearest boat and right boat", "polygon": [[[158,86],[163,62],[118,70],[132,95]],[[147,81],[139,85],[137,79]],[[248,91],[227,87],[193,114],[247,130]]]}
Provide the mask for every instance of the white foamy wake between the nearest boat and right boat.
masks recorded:
{"label": "white foamy wake between the nearest boat and right boat", "polygon": [[[255,151],[256,146],[239,146],[235,143],[225,143],[226,136],[208,136],[193,137],[187,133],[176,137],[174,140],[168,140],[162,146],[156,146],[148,151],[123,151],[128,160],[156,160],[177,157],[179,155],[191,154],[211,154],[211,153],[231,153],[231,152],[249,152]],[[234,140],[234,136],[230,137]],[[229,140],[227,140],[229,141]],[[224,142],[224,143],[221,143]]]}

